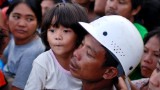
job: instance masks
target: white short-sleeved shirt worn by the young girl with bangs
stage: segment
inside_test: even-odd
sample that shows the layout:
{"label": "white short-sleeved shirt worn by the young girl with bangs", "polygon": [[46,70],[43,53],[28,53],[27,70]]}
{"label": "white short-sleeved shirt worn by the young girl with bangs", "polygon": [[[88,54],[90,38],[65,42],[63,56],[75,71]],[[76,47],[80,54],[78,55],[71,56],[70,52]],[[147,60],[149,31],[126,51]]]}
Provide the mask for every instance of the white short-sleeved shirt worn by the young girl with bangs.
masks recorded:
{"label": "white short-sleeved shirt worn by the young girl with bangs", "polygon": [[49,50],[34,60],[25,90],[81,90],[81,87],[81,80],[65,70]]}

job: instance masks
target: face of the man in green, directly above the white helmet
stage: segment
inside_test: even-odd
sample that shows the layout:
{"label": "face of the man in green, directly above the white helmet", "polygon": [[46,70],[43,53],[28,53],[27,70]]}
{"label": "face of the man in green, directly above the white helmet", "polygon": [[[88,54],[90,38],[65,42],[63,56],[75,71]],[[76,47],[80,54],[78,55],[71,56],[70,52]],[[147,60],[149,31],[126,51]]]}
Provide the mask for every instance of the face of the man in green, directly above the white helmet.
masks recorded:
{"label": "face of the man in green, directly above the white helmet", "polygon": [[127,19],[133,18],[131,0],[107,0],[105,7],[106,15],[121,15]]}

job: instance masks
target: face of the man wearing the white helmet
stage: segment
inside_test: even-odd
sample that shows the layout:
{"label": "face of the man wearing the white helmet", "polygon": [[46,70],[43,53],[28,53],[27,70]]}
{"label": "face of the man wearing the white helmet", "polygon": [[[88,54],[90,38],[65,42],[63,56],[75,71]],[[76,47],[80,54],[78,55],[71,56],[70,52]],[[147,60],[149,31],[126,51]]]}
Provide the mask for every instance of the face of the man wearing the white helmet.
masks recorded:
{"label": "face of the man wearing the white helmet", "polygon": [[70,71],[76,78],[86,81],[98,81],[106,70],[103,67],[105,49],[91,35],[86,35],[82,44],[74,51]]}

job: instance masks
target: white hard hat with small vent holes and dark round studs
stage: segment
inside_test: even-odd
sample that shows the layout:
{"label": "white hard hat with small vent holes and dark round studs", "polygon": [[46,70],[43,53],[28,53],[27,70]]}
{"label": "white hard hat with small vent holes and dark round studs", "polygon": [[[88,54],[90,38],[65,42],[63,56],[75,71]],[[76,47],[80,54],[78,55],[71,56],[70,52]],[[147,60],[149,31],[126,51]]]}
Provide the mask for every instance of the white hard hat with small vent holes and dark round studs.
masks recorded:
{"label": "white hard hat with small vent holes and dark round studs", "polygon": [[116,56],[125,75],[129,75],[139,64],[143,54],[143,40],[129,20],[122,16],[110,15],[91,23],[79,24]]}

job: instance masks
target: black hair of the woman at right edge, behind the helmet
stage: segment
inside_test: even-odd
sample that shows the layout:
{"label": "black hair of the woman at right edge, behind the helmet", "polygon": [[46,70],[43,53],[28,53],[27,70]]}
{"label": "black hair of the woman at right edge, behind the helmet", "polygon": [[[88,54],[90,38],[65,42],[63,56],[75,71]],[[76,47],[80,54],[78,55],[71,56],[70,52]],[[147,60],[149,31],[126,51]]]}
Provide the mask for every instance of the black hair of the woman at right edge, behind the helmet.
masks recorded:
{"label": "black hair of the woman at right edge, behind the helmet", "polygon": [[150,38],[152,38],[153,36],[156,36],[157,39],[160,42],[160,27],[157,27],[155,29],[153,29],[152,31],[148,32],[144,38],[144,45],[149,41]]}

